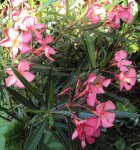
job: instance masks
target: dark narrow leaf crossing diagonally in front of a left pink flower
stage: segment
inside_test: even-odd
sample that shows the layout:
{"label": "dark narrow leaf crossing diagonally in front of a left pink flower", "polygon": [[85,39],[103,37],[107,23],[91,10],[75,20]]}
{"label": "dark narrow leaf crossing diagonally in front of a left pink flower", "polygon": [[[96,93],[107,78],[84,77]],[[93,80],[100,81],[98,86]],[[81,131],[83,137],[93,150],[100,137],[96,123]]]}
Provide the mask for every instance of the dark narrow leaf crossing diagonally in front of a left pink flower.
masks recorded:
{"label": "dark narrow leaf crossing diagonally in front of a left pink flower", "polygon": [[23,83],[23,85],[30,91],[35,98],[37,98],[43,105],[45,105],[45,102],[38,92],[38,90],[31,85],[16,69],[12,69],[15,75],[18,77],[18,79]]}

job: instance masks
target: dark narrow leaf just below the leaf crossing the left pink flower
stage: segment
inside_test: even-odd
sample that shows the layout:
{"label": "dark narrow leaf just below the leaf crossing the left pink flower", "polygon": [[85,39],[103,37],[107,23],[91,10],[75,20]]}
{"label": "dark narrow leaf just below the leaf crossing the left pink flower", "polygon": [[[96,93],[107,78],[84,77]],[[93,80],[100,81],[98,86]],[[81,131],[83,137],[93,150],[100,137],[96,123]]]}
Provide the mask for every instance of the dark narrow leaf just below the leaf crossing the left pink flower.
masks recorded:
{"label": "dark narrow leaf just below the leaf crossing the left pink flower", "polygon": [[24,96],[22,96],[20,93],[17,91],[11,89],[11,88],[6,88],[9,94],[12,96],[12,98],[17,101],[18,103],[23,104],[24,106],[30,108],[30,109],[37,109],[37,107],[33,104],[32,101],[26,99]]}

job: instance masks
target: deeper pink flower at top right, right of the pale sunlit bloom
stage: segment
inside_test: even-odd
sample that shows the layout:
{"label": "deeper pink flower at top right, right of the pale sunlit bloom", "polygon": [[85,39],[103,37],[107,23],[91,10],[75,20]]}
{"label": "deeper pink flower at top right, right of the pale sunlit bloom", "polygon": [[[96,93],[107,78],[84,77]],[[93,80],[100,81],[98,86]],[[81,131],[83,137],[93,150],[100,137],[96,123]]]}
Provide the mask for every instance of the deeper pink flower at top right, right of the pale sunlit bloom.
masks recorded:
{"label": "deeper pink flower at top right, right of the pale sunlit bloom", "polygon": [[133,21],[132,10],[130,7],[120,6],[117,10],[113,10],[108,15],[108,24],[112,28],[120,28],[120,20],[123,20],[127,24]]}

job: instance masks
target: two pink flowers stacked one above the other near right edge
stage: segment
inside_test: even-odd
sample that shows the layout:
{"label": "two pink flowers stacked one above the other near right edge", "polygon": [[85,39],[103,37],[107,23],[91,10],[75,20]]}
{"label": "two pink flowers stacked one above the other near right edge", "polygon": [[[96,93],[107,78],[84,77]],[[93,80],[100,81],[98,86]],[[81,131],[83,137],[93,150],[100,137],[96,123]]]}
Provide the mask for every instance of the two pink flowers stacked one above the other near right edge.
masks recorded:
{"label": "two pink flowers stacked one above the other near right edge", "polygon": [[120,81],[120,90],[123,87],[129,91],[136,83],[136,70],[131,66],[132,62],[127,60],[128,54],[125,50],[119,50],[115,54],[115,64],[119,68],[118,78]]}

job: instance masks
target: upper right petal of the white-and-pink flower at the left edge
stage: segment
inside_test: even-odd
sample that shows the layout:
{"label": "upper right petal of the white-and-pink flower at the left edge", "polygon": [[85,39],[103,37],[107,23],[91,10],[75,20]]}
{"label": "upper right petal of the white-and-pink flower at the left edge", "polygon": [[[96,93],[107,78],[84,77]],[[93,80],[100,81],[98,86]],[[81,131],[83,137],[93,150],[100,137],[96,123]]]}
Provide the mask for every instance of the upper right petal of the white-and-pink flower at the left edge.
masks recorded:
{"label": "upper right petal of the white-and-pink flower at the left edge", "polygon": [[22,40],[21,42],[29,43],[32,39],[32,34],[30,32],[24,32],[23,34],[21,34],[20,38]]}

